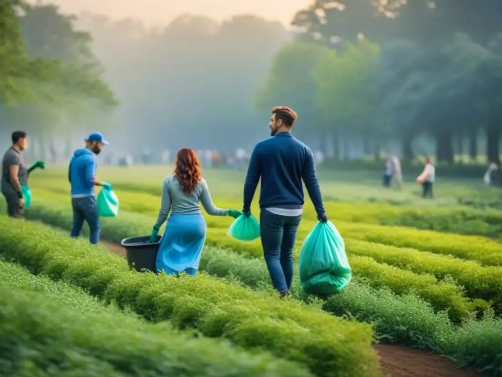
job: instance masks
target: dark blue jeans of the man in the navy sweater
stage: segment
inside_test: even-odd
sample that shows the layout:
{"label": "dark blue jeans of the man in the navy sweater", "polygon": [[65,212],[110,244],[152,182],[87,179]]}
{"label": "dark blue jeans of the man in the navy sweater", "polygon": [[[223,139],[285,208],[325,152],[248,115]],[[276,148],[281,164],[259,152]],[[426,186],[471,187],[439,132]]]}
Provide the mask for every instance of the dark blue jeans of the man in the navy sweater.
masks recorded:
{"label": "dark blue jeans of the man in the navy sweater", "polygon": [[293,282],[293,247],[302,216],[275,215],[268,210],[260,213],[263,255],[272,285],[279,292],[291,289]]}

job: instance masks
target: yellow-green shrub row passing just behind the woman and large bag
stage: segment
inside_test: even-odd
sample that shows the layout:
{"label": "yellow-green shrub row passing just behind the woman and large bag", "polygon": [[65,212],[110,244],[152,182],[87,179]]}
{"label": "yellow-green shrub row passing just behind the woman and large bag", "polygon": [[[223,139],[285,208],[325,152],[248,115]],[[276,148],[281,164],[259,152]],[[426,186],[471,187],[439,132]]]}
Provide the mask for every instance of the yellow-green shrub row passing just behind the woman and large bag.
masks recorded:
{"label": "yellow-green shrub row passing just behind the woman and large bag", "polygon": [[[69,229],[71,227],[72,214],[70,210],[57,202],[34,206],[30,210],[29,216],[32,219],[42,220],[61,228]],[[103,219],[102,237],[110,242],[119,243],[121,239],[131,235],[148,234],[150,223],[151,220],[145,215],[122,211],[120,218]],[[235,240],[223,234],[221,229],[210,229],[206,240],[206,243],[211,246],[224,247],[229,246],[225,245],[225,242],[236,243]],[[262,255],[259,243],[243,244],[238,242],[237,245],[249,249],[253,247],[252,253],[250,253],[253,256],[261,257]],[[242,250],[235,246],[233,249]],[[372,287],[389,287],[398,295],[414,292],[431,303],[436,311],[447,310],[450,319],[454,322],[460,322],[467,318],[473,310],[486,309],[490,306],[482,300],[471,302],[451,279],[438,281],[433,275],[418,275],[408,270],[378,263],[365,256],[349,255],[349,262],[354,275],[366,277],[368,284]]]}

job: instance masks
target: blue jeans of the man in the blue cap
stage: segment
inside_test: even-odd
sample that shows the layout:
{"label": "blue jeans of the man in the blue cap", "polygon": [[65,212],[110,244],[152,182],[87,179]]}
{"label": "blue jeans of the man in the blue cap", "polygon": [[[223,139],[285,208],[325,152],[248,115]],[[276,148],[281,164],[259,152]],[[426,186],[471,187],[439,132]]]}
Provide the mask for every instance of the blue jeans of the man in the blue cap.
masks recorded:
{"label": "blue jeans of the man in the blue cap", "polygon": [[71,205],[73,207],[73,227],[70,237],[76,238],[80,235],[85,220],[89,224],[89,240],[91,244],[97,244],[99,242],[101,225],[99,223],[99,215],[97,214],[96,198],[71,198]]}

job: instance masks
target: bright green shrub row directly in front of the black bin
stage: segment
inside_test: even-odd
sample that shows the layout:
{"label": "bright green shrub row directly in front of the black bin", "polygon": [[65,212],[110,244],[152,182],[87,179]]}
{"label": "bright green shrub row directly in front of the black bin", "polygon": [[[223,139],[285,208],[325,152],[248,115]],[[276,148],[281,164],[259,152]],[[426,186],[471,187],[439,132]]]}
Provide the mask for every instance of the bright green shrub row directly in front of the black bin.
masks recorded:
{"label": "bright green shrub row directly in front of the black bin", "polygon": [[156,322],[171,320],[236,346],[268,350],[319,376],[381,375],[370,326],[202,273],[137,273],[122,258],[84,242],[42,224],[0,219],[0,250],[35,274],[64,280]]}

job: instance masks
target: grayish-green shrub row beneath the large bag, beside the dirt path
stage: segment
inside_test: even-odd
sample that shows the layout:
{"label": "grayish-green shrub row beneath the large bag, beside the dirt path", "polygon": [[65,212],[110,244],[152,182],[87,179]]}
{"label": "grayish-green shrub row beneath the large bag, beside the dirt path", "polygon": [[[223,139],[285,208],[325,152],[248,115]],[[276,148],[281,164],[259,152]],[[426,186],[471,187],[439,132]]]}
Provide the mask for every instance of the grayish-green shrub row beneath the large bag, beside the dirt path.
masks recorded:
{"label": "grayish-green shrub row beneath the large bag, beside the dirt path", "polygon": [[[200,268],[208,273],[241,282],[252,289],[267,290],[270,277],[263,260],[244,258],[230,250],[208,247]],[[454,326],[444,313],[435,314],[429,304],[412,294],[397,296],[388,289],[374,289],[358,278],[340,293],[317,303],[300,288],[295,266],[293,297],[314,301],[335,315],[354,316],[370,322],[384,342],[407,344],[448,355],[457,365],[470,365],[492,375],[502,375],[502,319],[491,310],[480,321],[470,318]]]}

